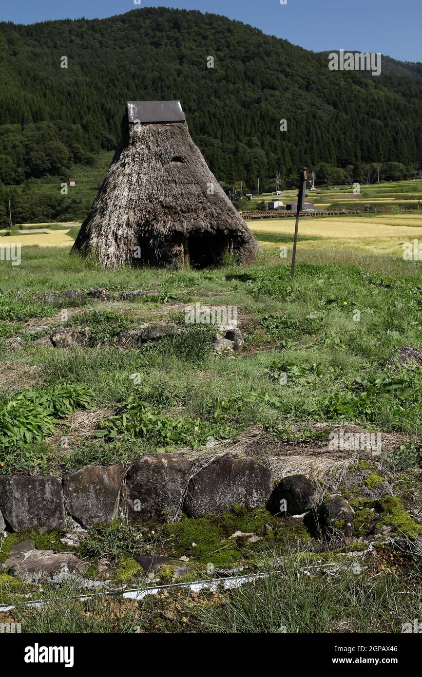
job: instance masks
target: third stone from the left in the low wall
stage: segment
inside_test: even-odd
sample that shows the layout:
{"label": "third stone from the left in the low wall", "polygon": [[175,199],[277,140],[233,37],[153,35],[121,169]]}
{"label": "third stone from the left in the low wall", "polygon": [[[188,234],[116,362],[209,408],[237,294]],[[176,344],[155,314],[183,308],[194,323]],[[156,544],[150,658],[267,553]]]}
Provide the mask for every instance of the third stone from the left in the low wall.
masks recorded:
{"label": "third stone from the left in the low wall", "polygon": [[122,492],[121,510],[135,522],[159,522],[180,508],[191,464],[175,454],[144,456],[129,469]]}

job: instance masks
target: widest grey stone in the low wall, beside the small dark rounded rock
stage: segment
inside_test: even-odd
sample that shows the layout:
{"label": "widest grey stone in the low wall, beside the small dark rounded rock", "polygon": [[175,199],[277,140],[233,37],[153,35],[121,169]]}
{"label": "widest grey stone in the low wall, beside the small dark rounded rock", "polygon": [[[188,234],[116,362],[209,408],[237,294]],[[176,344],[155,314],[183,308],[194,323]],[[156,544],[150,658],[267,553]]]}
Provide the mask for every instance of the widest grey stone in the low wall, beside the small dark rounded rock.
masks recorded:
{"label": "widest grey stone in the low wall, beside the small dark rounded rock", "polygon": [[266,504],[271,490],[270,468],[255,458],[226,454],[190,480],[184,511],[189,517],[201,517],[221,515],[236,504],[256,508]]}

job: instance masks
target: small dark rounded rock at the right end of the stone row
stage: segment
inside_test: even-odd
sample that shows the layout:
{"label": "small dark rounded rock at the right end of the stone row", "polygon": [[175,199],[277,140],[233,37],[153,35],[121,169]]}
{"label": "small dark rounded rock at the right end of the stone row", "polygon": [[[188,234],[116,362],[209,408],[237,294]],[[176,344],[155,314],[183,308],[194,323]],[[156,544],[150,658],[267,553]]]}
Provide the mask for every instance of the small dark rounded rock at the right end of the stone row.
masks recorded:
{"label": "small dark rounded rock at the right end of the stone row", "polygon": [[284,477],[272,490],[267,509],[272,515],[302,515],[311,505],[316,485],[305,475]]}

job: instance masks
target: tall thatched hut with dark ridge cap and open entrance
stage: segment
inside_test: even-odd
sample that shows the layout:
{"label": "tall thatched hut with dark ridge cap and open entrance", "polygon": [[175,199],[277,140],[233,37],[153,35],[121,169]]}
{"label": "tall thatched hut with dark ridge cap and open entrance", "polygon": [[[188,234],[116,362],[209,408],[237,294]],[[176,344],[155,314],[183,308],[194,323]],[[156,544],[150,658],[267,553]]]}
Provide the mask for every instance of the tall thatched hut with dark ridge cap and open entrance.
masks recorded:
{"label": "tall thatched hut with dark ridge cap and open entrance", "polygon": [[218,265],[257,243],[194,144],[180,102],[128,102],[123,137],[75,249],[104,267]]}

